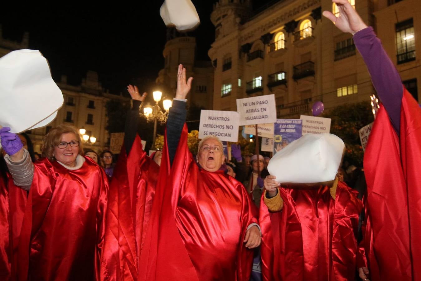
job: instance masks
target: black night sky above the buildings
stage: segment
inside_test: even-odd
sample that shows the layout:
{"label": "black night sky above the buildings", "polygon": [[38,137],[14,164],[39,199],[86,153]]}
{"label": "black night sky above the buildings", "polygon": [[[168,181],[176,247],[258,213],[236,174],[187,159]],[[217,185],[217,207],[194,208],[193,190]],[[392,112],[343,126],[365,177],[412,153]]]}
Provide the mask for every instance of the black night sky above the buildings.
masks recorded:
{"label": "black night sky above the buildings", "polygon": [[[48,59],[57,81],[67,75],[69,84],[80,85],[87,70],[95,70],[112,93],[125,92],[128,83],[143,84],[150,91],[164,64],[166,28],[159,14],[163,1],[138,2],[126,6],[85,2],[60,8],[20,3],[1,9],[0,24],[6,39],[21,41],[28,31],[29,48],[40,50]],[[208,49],[214,40],[210,13],[216,1],[192,2],[201,20],[191,33],[197,38],[197,56],[209,59]],[[270,1],[254,2],[258,8]]]}

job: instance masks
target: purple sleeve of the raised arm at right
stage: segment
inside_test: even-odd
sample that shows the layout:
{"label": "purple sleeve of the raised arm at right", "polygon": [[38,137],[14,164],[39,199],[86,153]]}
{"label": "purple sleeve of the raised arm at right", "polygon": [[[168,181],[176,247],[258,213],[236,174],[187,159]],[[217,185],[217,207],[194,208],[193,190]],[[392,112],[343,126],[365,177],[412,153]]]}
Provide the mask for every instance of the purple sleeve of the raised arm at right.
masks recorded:
{"label": "purple sleeve of the raised arm at right", "polygon": [[379,99],[399,135],[400,107],[403,88],[399,73],[376,37],[373,27],[367,27],[354,34],[354,43],[360,52]]}

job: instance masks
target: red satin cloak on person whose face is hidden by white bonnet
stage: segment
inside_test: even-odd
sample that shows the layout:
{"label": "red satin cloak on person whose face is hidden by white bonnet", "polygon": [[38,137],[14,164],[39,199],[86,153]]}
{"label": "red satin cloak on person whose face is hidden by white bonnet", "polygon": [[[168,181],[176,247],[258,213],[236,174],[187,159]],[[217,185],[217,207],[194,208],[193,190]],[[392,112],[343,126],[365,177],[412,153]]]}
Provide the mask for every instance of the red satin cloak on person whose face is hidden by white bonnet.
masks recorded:
{"label": "red satin cloak on person whose face is hidden by white bonnet", "polygon": [[279,190],[282,211],[269,212],[263,196],[260,204],[263,280],[354,280],[363,207],[357,193],[343,182],[335,200],[327,186]]}

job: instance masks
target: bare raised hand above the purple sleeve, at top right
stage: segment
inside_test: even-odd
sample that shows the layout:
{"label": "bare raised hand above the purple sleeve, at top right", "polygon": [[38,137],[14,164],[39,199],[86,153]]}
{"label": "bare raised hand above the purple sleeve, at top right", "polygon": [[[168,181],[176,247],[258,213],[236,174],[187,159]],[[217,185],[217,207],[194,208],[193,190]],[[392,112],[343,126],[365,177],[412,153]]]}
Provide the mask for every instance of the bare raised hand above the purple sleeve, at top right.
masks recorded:
{"label": "bare raised hand above the purple sleeve, at top right", "polygon": [[330,19],[341,31],[354,35],[356,32],[367,27],[348,0],[332,0],[332,2],[338,5],[339,16],[335,16],[330,11],[323,11],[323,16]]}

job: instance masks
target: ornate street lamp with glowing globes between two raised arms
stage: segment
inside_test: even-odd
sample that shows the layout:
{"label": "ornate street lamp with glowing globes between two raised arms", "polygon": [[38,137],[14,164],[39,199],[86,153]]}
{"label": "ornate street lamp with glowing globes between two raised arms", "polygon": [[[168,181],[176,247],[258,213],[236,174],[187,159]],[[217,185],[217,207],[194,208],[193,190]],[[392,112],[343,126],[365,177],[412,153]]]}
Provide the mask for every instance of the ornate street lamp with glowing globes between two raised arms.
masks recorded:
{"label": "ornate street lamp with glowing globes between two raised arms", "polygon": [[171,100],[165,99],[163,100],[162,104],[164,107],[164,112],[161,109],[159,102],[162,98],[162,92],[155,91],[152,93],[155,101],[155,105],[152,107],[149,104],[147,104],[143,108],[143,113],[146,117],[146,119],[149,121],[154,120],[154,134],[152,138],[152,149],[155,149],[155,139],[157,135],[157,122],[159,121],[161,124],[165,123],[168,118],[168,110],[170,110],[170,107],[172,105]]}

